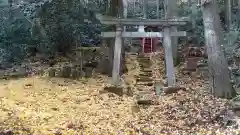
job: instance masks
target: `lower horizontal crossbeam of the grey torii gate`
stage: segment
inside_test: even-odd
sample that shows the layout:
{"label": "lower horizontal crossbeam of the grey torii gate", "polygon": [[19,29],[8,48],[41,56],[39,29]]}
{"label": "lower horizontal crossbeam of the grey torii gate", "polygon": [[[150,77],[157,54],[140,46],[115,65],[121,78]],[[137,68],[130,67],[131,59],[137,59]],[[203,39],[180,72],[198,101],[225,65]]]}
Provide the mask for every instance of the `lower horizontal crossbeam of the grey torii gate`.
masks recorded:
{"label": "lower horizontal crossbeam of the grey torii gate", "polygon": [[[115,32],[102,32],[101,33],[102,37],[105,38],[113,38],[116,37]],[[162,32],[122,32],[122,37],[127,38],[127,37],[132,37],[132,38],[138,38],[138,37],[163,37]],[[185,37],[187,36],[186,31],[178,31],[178,32],[172,32],[171,35],[172,37]]]}

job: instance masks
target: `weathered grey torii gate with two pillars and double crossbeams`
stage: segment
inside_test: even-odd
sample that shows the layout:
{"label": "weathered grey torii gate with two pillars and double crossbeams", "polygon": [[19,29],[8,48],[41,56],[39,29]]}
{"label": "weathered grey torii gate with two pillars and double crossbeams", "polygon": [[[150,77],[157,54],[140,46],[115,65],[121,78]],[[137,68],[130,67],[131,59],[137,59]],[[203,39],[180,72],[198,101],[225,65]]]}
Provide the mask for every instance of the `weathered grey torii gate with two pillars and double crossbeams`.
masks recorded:
{"label": "weathered grey torii gate with two pillars and double crossbeams", "polygon": [[[122,6],[121,4],[118,6]],[[112,81],[113,85],[118,85],[120,81],[120,61],[121,61],[121,50],[123,38],[163,38],[166,69],[167,69],[167,82],[168,86],[175,85],[175,69],[173,65],[173,55],[171,46],[171,37],[187,36],[185,31],[171,32],[171,26],[185,25],[187,21],[183,19],[116,19],[108,16],[102,16],[97,14],[96,18],[106,25],[116,25],[115,32],[102,32],[101,36],[104,38],[115,37],[114,47],[114,62],[112,69]],[[164,27],[164,32],[123,32],[122,26],[126,25],[154,25]]]}

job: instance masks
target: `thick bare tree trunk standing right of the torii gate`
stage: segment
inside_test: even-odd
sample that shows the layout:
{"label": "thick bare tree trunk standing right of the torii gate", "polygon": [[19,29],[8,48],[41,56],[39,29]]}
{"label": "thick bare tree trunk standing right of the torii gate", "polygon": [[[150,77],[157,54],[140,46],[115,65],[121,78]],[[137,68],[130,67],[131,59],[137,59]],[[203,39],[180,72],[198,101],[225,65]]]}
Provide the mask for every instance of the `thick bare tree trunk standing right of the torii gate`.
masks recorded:
{"label": "thick bare tree trunk standing right of the torii gate", "polygon": [[216,0],[202,0],[205,42],[212,93],[221,98],[232,98],[236,92],[230,83],[228,64],[221,49],[221,25]]}

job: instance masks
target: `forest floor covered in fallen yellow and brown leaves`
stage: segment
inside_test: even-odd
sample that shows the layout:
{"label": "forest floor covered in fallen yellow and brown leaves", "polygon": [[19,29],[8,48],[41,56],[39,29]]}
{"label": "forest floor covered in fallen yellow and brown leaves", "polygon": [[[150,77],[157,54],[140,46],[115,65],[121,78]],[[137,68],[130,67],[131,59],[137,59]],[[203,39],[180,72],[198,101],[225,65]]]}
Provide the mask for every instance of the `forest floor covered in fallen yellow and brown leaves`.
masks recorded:
{"label": "forest floor covered in fallen yellow and brown leaves", "polygon": [[[133,89],[137,63],[129,58],[124,89]],[[163,68],[163,67],[161,67]],[[178,74],[187,88],[137,106],[134,97],[107,92],[110,78],[79,81],[33,76],[0,81],[0,135],[239,134],[228,101],[212,97],[208,83]],[[236,125],[236,124],[230,124]]]}

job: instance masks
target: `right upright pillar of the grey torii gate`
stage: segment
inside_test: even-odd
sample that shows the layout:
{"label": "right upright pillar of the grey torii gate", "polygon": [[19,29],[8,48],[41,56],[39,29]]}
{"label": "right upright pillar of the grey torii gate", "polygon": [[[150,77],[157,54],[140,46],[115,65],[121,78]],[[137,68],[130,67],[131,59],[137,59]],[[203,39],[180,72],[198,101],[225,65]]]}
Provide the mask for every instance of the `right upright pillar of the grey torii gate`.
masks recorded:
{"label": "right upright pillar of the grey torii gate", "polygon": [[165,64],[167,70],[167,83],[168,86],[173,86],[176,83],[175,69],[173,65],[172,45],[171,45],[171,29],[170,27],[164,28],[163,46],[165,54]]}

